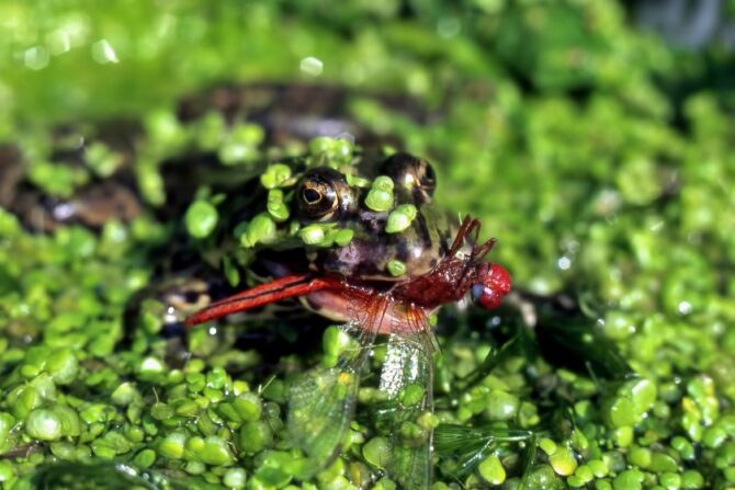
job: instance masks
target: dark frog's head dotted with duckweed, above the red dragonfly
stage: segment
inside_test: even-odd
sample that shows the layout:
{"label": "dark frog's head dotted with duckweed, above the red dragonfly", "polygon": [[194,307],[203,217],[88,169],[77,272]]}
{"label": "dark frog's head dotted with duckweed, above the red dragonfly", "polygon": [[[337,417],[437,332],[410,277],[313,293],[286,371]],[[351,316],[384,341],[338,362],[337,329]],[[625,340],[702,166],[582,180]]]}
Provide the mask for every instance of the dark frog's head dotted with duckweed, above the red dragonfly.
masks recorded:
{"label": "dark frog's head dotted with duckweed, above the red dragonfly", "polygon": [[307,267],[366,281],[430,271],[451,240],[432,204],[436,185],[431,164],[407,153],[307,167],[287,192]]}

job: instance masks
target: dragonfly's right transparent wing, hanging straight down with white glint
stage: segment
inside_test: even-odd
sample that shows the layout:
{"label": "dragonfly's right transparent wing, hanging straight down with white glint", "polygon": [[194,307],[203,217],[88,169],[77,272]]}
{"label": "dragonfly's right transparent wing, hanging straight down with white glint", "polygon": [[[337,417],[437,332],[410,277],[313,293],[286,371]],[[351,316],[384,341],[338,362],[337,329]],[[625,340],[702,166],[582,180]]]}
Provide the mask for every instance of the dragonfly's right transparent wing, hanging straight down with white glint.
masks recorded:
{"label": "dragonfly's right transparent wing, hanging straight down with white glint", "polygon": [[404,489],[431,485],[434,339],[423,311],[395,304],[380,390],[378,430],[391,441],[385,469]]}

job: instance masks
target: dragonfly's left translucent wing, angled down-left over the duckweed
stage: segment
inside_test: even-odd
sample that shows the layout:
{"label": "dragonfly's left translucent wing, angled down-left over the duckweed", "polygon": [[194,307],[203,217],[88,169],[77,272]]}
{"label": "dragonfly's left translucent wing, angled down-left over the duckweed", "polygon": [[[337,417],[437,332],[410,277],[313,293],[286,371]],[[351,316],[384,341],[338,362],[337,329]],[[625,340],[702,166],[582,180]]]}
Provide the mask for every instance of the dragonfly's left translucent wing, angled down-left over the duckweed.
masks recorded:
{"label": "dragonfly's left translucent wing, angled down-left over the duckweed", "polygon": [[[325,334],[325,362],[292,385],[287,417],[291,443],[306,455],[301,479],[323,470],[339,455],[354,415],[360,376],[387,303],[378,295],[352,298],[352,320]],[[377,321],[377,323],[376,323]]]}

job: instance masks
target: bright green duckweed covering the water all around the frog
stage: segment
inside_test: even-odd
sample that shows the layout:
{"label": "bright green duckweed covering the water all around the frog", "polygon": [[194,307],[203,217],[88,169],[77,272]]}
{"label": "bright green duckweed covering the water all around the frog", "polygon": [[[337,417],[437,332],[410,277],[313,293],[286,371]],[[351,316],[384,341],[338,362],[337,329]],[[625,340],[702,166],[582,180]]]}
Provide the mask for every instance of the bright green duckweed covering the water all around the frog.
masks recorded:
{"label": "bright green duckweed covering the water all around the frog", "polygon": [[[287,218],[272,191],[290,175],[258,162],[342,158],[344,143],[267,148],[252,122],[176,116],[185,94],[253,80],[353,90],[351,116],[434,164],[440,205],[483,220],[499,239],[493,260],[525,294],[437,319],[434,488],[735,487],[735,126],[732,93],[706,79],[724,55],[676,52],[614,2],[407,5],[0,4],[0,140],[23,149],[35,186],[65,197],[127,153],[98,145],[61,166],[52,128],[94,137],[101,122],[140,121],[133,168],[147,209],[43,233],[0,209],[2,488],[395,488],[370,386],[342,456],[297,478],[289,386],[328,362],[320,322],[192,330],[176,363],[159,303],[125,318],[159,280],[155,251],[177,240],[206,259],[224,226],[205,189],[180,216],[157,214],[171,194],[162,162],[212,151],[271,190],[223,265],[237,284],[251,280],[236,266],[249,248]],[[299,69],[312,56],[320,75]],[[407,94],[423,115],[365,93]],[[366,184],[383,208],[386,187]],[[298,238],[346,239],[330,233]],[[268,332],[282,357],[242,331]]]}

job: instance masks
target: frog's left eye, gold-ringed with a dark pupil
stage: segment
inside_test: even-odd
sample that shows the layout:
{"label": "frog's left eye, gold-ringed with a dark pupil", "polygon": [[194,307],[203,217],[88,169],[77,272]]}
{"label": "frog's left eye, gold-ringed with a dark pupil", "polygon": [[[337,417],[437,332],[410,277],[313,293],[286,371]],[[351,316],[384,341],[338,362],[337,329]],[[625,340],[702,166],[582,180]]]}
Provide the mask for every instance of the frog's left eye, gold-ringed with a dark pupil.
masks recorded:
{"label": "frog's left eye, gold-ringed with a dark pupil", "polygon": [[335,216],[343,200],[347,183],[341,173],[332,169],[313,169],[298,187],[299,215],[307,220],[326,221]]}

